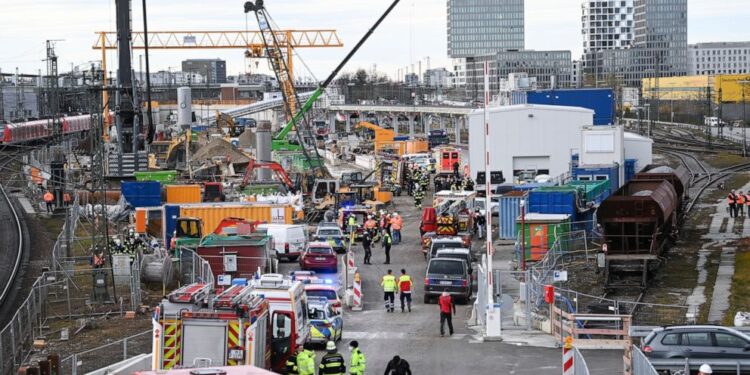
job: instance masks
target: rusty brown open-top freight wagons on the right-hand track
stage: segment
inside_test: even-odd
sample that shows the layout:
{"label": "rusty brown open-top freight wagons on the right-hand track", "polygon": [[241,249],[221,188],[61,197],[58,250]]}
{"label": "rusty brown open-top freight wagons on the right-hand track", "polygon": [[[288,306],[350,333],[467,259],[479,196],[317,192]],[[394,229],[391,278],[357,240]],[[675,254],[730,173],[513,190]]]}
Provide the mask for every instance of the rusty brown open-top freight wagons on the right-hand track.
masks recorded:
{"label": "rusty brown open-top freight wagons on the right-hand track", "polygon": [[601,203],[607,288],[646,287],[676,236],[689,181],[683,169],[649,166]]}

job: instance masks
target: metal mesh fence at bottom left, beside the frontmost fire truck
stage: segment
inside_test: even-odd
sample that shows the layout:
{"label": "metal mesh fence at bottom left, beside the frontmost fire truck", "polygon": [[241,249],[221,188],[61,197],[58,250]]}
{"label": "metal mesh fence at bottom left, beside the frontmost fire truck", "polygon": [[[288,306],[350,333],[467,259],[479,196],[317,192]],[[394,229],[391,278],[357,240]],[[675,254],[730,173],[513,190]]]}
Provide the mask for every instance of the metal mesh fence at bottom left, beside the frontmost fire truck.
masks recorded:
{"label": "metal mesh fence at bottom left, beside the frontmost fire truck", "polygon": [[62,374],[85,374],[111,364],[124,361],[151,350],[151,330],[117,340],[106,345],[75,353],[62,359]]}

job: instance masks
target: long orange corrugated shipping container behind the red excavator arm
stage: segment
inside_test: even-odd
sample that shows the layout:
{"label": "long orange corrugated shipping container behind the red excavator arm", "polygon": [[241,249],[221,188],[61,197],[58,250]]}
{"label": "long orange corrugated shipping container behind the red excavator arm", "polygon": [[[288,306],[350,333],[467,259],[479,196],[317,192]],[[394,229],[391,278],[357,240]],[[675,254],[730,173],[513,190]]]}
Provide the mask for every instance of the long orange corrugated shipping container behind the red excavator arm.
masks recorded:
{"label": "long orange corrugated shipping container behind the red excavator arm", "polygon": [[265,223],[292,224],[294,208],[291,205],[245,203],[245,204],[189,204],[180,207],[180,216],[194,217],[203,221],[203,233],[211,233],[228,217],[237,217]]}

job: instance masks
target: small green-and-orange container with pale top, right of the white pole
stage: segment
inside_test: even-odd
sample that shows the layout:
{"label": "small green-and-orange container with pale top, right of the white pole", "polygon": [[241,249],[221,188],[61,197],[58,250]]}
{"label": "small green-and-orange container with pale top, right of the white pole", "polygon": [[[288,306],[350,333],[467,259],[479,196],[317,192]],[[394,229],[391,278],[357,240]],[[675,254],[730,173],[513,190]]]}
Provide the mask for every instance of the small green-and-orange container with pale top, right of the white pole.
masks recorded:
{"label": "small green-and-orange container with pale top, right of the white pole", "polygon": [[[547,251],[563,234],[570,232],[570,215],[527,213],[525,220],[516,219],[516,233],[523,233],[526,260],[535,262],[544,259]],[[563,243],[562,250],[565,249]]]}

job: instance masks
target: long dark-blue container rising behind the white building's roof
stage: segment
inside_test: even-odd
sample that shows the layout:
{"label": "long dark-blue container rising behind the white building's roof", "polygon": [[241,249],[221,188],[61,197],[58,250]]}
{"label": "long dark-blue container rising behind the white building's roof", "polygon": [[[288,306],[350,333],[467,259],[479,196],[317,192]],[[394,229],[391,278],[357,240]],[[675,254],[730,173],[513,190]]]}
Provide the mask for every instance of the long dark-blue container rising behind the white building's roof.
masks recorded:
{"label": "long dark-blue container rising behind the white building's roof", "polygon": [[593,125],[612,125],[615,122],[615,95],[612,89],[529,91],[526,96],[529,104],[591,109],[594,111]]}

